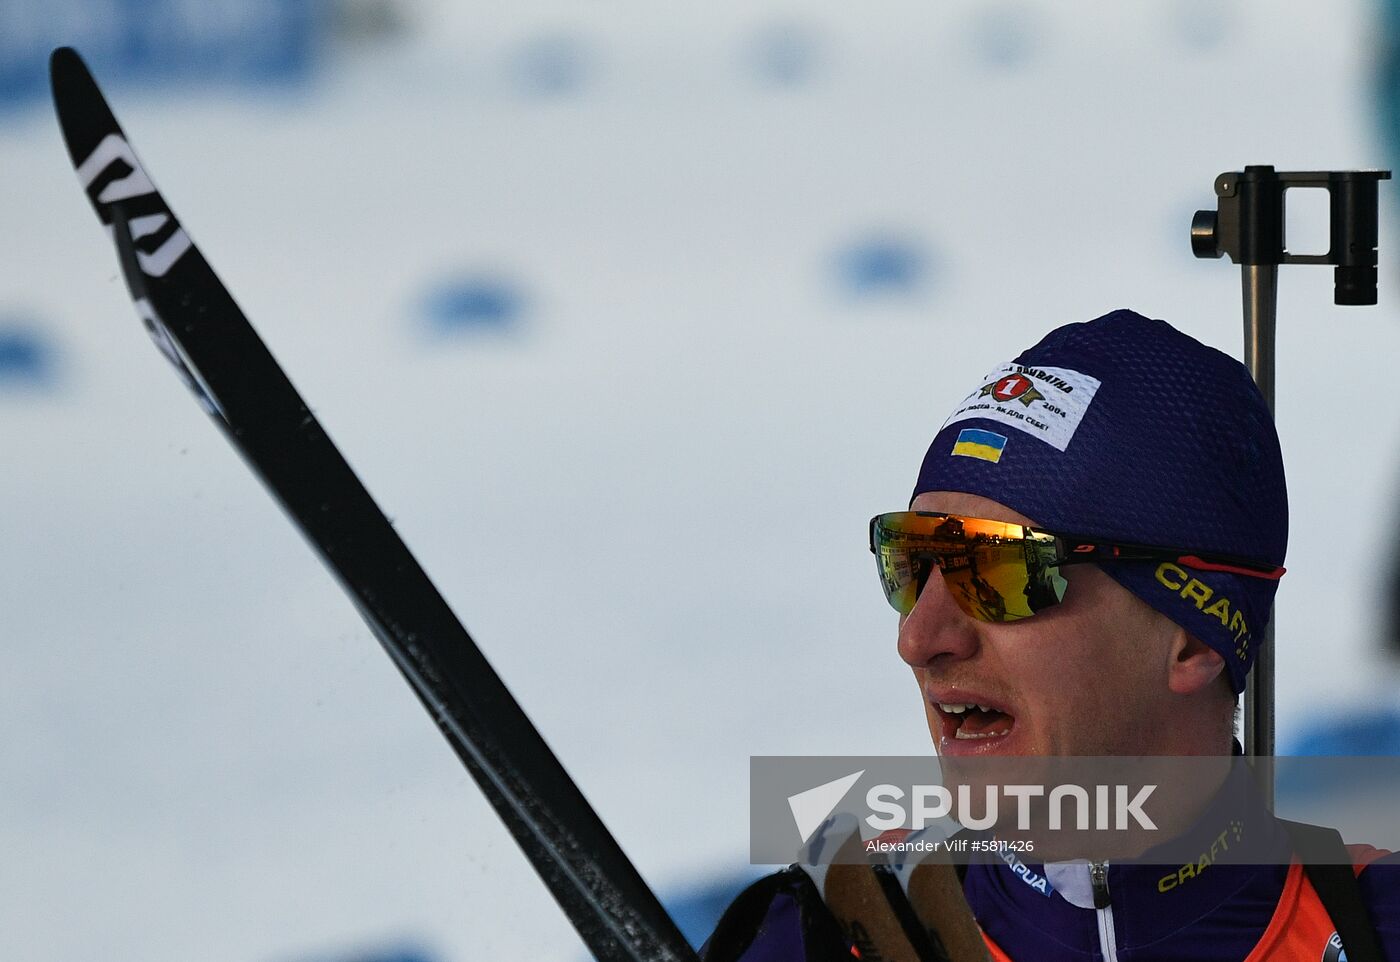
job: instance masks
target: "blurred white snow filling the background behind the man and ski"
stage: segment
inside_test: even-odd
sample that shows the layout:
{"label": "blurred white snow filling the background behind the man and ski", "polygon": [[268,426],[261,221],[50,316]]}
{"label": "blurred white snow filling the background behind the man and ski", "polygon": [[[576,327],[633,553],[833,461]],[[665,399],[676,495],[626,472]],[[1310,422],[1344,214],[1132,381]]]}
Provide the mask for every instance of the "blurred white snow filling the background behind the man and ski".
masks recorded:
{"label": "blurred white snow filling the background behind the man and ski", "polygon": [[[1238,356],[1239,272],[1190,256],[1190,216],[1245,164],[1386,164],[1373,25],[1301,0],[515,7],[419,4],[417,34],[342,50],[305,91],[111,94],[435,584],[676,892],[746,871],[749,755],[927,751],[867,518],[907,501],[970,379],[1051,326],[1133,307]],[[774,22],[818,43],[801,83],[745,60]],[[553,97],[511,81],[542,34],[591,57]],[[50,319],[62,374],[0,396],[0,955],[580,958],[141,333],[46,108],[4,118],[0,171],[0,304]],[[886,235],[937,269],[853,295],[833,265]],[[426,291],[459,273],[518,283],[518,330],[424,336]],[[1348,309],[1330,272],[1282,272],[1282,744],[1393,699],[1372,636],[1394,281],[1383,265],[1380,307]]]}

